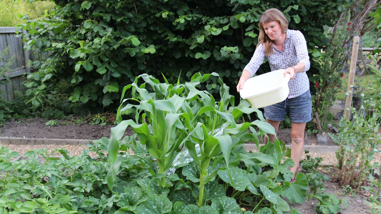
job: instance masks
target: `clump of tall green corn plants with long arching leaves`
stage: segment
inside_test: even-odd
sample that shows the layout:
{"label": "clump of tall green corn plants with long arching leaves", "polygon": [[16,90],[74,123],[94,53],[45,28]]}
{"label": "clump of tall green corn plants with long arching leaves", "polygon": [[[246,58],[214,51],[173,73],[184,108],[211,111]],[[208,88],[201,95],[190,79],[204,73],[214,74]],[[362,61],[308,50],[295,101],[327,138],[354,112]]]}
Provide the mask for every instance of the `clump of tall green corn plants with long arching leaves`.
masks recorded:
{"label": "clump of tall green corn plants with long arching leaves", "polygon": [[[212,76],[218,78],[221,84],[220,101],[216,101],[207,91],[197,89],[200,83],[207,81]],[[197,205],[200,208],[207,206],[207,201],[210,200],[213,205],[210,189],[218,185],[213,182],[217,175],[237,191],[250,190],[258,194],[257,189],[260,185],[255,183],[256,177],[250,174],[249,169],[245,172],[237,167],[241,161],[247,164],[248,168],[253,164],[259,167],[270,164],[274,168],[267,173],[267,177],[274,180],[269,182],[269,186],[261,185],[261,191],[264,191],[265,197],[271,198],[272,192],[269,188],[275,184],[279,172],[282,170],[285,172],[287,167],[280,165],[282,154],[284,154],[281,142],[276,140],[275,144],[269,143],[261,147],[260,152],[251,154],[247,154],[242,147],[244,143],[252,141],[259,148],[259,136],[262,138],[267,137],[265,133],[275,134],[274,128],[264,121],[262,113],[256,108],[250,108],[247,101],[243,101],[235,107],[234,97],[229,94],[229,87],[222,82],[217,73],[204,75],[196,73],[192,76],[191,81],[185,84],[180,84],[178,80],[175,85],[172,85],[165,77],[163,79],[165,83],[160,83],[156,78],[144,74],[136,77],[133,83],[123,88],[122,104],[117,112],[119,124],[111,129],[108,145],[109,160],[112,164],[107,175],[110,190],[113,190],[114,180],[120,172],[120,164],[127,161],[125,157],[118,155],[118,151],[125,149],[126,144],[134,144],[135,147],[142,144],[157,161],[157,172],[149,170],[152,179],[157,179],[157,184],[161,188],[168,187],[167,178],[173,180],[174,177],[177,177],[176,174],[174,176],[166,174],[173,165],[178,152],[184,148],[189,150],[193,162],[182,168],[182,174],[187,180],[193,182],[192,185],[195,185],[192,194],[198,195]],[[143,83],[138,85],[141,80]],[[131,98],[124,99],[127,90],[131,91]],[[257,113],[259,120],[237,124],[244,113],[253,112]],[[123,114],[131,115],[131,113],[134,114],[135,120],[122,120]],[[125,137],[121,141],[128,126],[131,126],[134,135]],[[256,128],[258,128],[258,132]],[[249,129],[251,133],[248,132]],[[138,141],[135,140],[136,138]],[[199,152],[196,147],[199,147]],[[299,175],[298,178],[300,177]],[[147,182],[145,181],[145,185]],[[150,182],[146,185],[147,189],[150,189],[149,185]],[[301,181],[299,185],[305,185],[304,181]],[[192,188],[185,183],[180,186],[187,189]],[[292,187],[295,186],[284,187],[285,196],[295,195],[293,193],[295,189]],[[207,188],[206,192],[205,188]],[[179,191],[178,194],[175,194],[175,198],[182,198],[184,194],[189,193]],[[302,199],[293,197],[291,197],[291,201],[303,199],[303,196],[301,196]],[[230,199],[224,200],[229,201]],[[278,201],[283,204],[277,205],[279,209],[288,210],[287,203],[280,197],[272,203],[278,204]]]}

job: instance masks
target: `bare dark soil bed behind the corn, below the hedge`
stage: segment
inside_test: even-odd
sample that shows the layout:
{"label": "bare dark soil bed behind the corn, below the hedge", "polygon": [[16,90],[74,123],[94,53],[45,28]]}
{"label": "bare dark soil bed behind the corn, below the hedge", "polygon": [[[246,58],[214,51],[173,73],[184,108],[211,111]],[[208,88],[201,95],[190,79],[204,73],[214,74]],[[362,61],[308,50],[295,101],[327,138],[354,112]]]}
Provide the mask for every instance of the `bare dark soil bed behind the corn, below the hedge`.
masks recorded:
{"label": "bare dark soil bed behind the corn, below the hedge", "polygon": [[[74,124],[73,122],[56,120],[56,126],[46,126],[48,120],[41,118],[29,118],[26,120],[12,120],[0,126],[2,137],[26,137],[26,138],[54,138],[54,139],[88,139],[96,140],[102,137],[110,137],[110,128],[115,125],[89,125],[86,123]],[[278,138],[291,144],[291,129],[279,129]],[[132,135],[131,127],[126,129],[126,135]],[[315,134],[305,136],[305,145],[317,145]]]}

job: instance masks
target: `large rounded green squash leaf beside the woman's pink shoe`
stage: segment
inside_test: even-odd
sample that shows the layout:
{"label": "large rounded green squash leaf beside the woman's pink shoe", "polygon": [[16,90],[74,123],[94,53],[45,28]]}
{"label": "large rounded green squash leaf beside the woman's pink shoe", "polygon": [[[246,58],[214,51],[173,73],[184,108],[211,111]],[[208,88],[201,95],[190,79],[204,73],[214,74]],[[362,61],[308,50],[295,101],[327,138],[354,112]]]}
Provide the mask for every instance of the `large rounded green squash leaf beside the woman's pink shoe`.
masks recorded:
{"label": "large rounded green squash leaf beside the woman's pink shoe", "polygon": [[308,190],[306,175],[299,173],[296,175],[294,182],[284,182],[282,190],[282,196],[287,197],[290,203],[304,203]]}

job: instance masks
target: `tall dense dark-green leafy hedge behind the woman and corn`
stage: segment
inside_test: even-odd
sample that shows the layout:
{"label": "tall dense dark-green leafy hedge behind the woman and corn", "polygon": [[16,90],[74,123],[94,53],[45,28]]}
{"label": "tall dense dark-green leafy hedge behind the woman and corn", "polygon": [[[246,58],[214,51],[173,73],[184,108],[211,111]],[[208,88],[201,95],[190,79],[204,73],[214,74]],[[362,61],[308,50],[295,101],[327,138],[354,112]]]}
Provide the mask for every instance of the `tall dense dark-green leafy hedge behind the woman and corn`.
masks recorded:
{"label": "tall dense dark-green leafy hedge behind the woman and corn", "polygon": [[[195,72],[217,72],[236,93],[236,81],[258,43],[258,20],[268,8],[284,11],[290,29],[306,37],[314,53],[327,43],[323,26],[343,10],[346,0],[56,0],[44,20],[22,26],[27,48],[47,50],[28,76],[32,103],[64,85],[76,113],[119,105],[123,86],[141,73],[168,81]],[[311,60],[312,62],[312,60]],[[312,62],[313,63],[313,62]],[[319,69],[315,64],[309,73]],[[259,73],[269,70],[261,67]],[[62,85],[62,84],[60,84]],[[37,88],[33,88],[37,87]],[[211,93],[218,86],[211,81]],[[239,97],[239,96],[237,96]]]}

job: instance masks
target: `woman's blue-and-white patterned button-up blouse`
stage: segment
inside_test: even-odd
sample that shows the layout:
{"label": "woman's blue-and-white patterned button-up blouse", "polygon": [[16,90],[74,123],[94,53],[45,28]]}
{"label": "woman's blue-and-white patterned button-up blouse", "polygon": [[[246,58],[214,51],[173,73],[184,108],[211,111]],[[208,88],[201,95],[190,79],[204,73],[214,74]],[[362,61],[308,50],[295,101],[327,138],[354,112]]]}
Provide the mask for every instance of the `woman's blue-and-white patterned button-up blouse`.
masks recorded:
{"label": "woman's blue-and-white patterned button-up blouse", "polygon": [[309,89],[309,80],[306,71],[310,68],[310,61],[306,39],[303,34],[299,30],[287,29],[286,37],[286,41],[283,43],[283,52],[273,46],[274,53],[272,53],[271,56],[265,56],[264,46],[259,45],[244,70],[248,70],[251,77],[253,77],[265,57],[269,61],[272,71],[286,69],[302,62],[304,64],[304,71],[295,73],[295,78],[288,82],[288,88],[290,89],[288,98],[293,98],[300,96]]}

